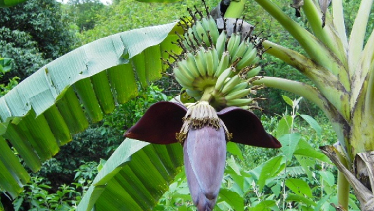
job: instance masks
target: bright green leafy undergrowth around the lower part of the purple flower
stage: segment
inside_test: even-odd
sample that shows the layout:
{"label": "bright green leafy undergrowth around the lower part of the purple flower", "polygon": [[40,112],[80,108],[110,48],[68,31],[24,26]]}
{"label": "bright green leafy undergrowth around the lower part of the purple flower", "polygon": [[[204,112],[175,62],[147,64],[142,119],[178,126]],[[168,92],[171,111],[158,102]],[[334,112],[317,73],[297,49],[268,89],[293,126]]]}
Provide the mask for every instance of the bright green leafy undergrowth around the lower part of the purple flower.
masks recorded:
{"label": "bright green leafy undergrowth around the lower part of the purple flower", "polygon": [[[265,128],[282,141],[283,147],[274,150],[240,146],[240,154],[233,150],[235,155],[227,158],[215,210],[335,211],[330,203],[337,204],[337,169],[316,147],[332,144],[336,135],[326,123],[320,126],[310,116],[304,120],[305,116],[299,114],[301,98],[284,98],[290,104],[289,113],[280,119],[262,116]],[[351,194],[350,210],[359,210],[356,203]],[[154,211],[194,209],[182,172]]]}

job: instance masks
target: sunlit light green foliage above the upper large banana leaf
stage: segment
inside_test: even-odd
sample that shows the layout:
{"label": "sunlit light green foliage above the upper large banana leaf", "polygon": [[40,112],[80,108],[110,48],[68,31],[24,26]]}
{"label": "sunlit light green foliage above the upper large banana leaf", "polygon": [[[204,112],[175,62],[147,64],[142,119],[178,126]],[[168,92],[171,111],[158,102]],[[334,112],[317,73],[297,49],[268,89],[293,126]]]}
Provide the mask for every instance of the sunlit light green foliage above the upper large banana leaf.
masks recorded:
{"label": "sunlit light green foliage above the upper large banana leaf", "polygon": [[[217,5],[219,0],[206,2],[208,5]],[[202,4],[193,0],[173,4],[114,0],[112,5],[108,6],[107,12],[98,15],[95,28],[82,33],[82,43],[78,45],[122,31],[176,21],[182,16],[188,16],[187,7],[193,8],[194,5],[201,6]]]}

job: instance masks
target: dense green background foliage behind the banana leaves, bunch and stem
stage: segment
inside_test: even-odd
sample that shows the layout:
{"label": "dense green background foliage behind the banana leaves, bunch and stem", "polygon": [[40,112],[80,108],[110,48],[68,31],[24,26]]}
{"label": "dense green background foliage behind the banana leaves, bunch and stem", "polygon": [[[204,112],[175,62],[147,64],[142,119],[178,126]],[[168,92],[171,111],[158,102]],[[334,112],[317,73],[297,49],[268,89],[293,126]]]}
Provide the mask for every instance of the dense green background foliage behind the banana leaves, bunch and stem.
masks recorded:
{"label": "dense green background foliage behind the banana leaves, bunch and stem", "polygon": [[[217,5],[218,2],[206,0],[207,5]],[[290,7],[289,0],[274,2],[299,24],[308,27],[303,16],[294,16],[295,9]],[[351,30],[358,3],[344,0],[347,31]],[[105,4],[99,0],[29,0],[11,8],[1,8],[0,58],[9,59],[0,62],[9,68],[1,69],[0,95],[5,95],[43,65],[77,47],[117,32],[178,20],[188,16],[187,7],[194,5],[202,6],[201,2],[193,0],[173,4],[148,4],[134,0],[113,0]],[[255,34],[270,36],[268,39],[275,43],[301,51],[298,43],[289,38],[256,2],[247,2],[244,16],[246,21],[257,23]],[[369,28],[373,28],[374,17],[370,19]],[[266,55],[265,62],[271,64],[264,68],[264,75],[307,81],[277,58]],[[53,159],[43,164],[41,171],[32,174],[31,182],[16,200],[12,201],[2,193],[3,209],[75,210],[98,169],[123,141],[122,134],[126,129],[152,103],[170,100],[178,94],[177,83],[168,76],[146,89],[139,85],[137,98],[118,106],[103,121],[75,135],[71,143],[61,147]],[[315,150],[337,141],[327,118],[312,103],[285,91],[264,89],[257,95],[266,98],[260,103],[262,111],[255,111],[261,116],[265,129],[276,137],[292,134],[299,139],[299,145],[310,146],[310,156],[305,157],[303,152],[298,152],[285,161],[280,158],[266,162],[281,150],[229,145],[223,186],[232,191],[223,195],[238,196],[238,200],[224,200],[221,196],[218,201],[221,205],[217,210],[335,210],[330,203],[337,202],[337,169],[327,157]],[[298,149],[293,150],[297,152]],[[275,162],[283,164],[273,168]],[[244,208],[238,205],[242,202]],[[359,210],[354,195],[351,195],[350,207]],[[182,172],[154,211],[194,209]]]}

